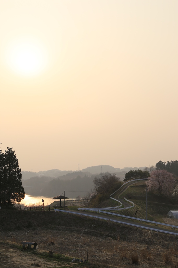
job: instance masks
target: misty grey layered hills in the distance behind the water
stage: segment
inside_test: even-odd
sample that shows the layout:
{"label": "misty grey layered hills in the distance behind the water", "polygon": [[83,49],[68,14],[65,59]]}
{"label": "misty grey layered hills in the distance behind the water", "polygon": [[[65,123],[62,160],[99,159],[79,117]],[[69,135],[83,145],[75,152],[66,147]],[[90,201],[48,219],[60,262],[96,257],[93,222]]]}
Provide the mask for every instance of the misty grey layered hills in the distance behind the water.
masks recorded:
{"label": "misty grey layered hills in the distance behind the water", "polygon": [[[143,169],[141,167],[139,169]],[[125,173],[130,169],[138,168],[114,168],[109,165],[102,166],[102,172],[115,173],[121,180]],[[83,170],[69,172],[66,170],[52,169],[40,172],[22,171],[22,185],[25,192],[32,196],[57,196],[64,191],[67,196],[75,198],[76,196],[84,196],[93,188],[93,180],[95,176],[101,173],[101,166],[92,166]],[[61,175],[58,175],[61,174]],[[58,176],[57,176],[58,175]]]}

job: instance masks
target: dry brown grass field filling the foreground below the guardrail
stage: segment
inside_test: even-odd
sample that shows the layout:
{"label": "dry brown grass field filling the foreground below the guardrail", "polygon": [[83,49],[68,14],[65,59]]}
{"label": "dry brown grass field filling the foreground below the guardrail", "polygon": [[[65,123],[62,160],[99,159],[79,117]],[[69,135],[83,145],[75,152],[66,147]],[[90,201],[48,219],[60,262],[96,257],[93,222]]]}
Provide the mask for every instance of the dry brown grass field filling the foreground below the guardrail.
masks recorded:
{"label": "dry brown grass field filling the foreground below the guardrail", "polygon": [[[52,211],[0,212],[2,268],[178,267],[175,236]],[[22,241],[37,242],[38,249],[22,250]],[[87,250],[88,262],[71,263],[86,259]]]}

